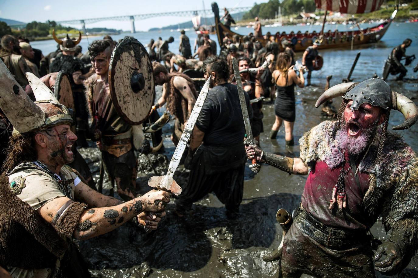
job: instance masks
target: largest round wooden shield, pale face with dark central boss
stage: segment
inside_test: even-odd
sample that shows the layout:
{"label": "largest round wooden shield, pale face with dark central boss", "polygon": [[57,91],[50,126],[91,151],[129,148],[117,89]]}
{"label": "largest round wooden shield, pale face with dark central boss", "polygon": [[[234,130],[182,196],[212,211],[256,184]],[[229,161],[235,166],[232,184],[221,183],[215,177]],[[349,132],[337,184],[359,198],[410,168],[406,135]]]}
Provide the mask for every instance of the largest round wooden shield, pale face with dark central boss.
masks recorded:
{"label": "largest round wooden shield, pale face with dark central boss", "polygon": [[135,38],[120,40],[113,50],[109,89],[117,113],[127,123],[139,125],[148,118],[155,98],[153,67]]}

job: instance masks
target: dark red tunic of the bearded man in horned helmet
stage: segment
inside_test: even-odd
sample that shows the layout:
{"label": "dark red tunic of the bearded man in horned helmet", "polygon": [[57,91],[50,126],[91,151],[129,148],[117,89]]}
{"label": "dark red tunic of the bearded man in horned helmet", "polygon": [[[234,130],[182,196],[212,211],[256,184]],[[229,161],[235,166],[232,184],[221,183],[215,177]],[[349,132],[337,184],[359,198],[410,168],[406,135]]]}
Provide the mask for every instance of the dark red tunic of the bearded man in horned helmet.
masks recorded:
{"label": "dark red tunic of the bearded man in horned helmet", "polygon": [[[344,170],[350,167],[349,156],[344,155],[346,163]],[[358,167],[357,161],[356,167]],[[336,185],[342,164],[330,169],[324,161],[317,161],[315,168],[311,170],[306,180],[302,193],[302,206],[316,220],[328,226],[344,229],[368,229],[372,226],[373,219],[365,212],[363,198],[369,188],[369,175],[357,173],[360,185],[357,185],[354,177],[355,170],[349,170],[344,177],[347,193],[347,206],[340,213],[338,205],[329,210],[332,188]]]}

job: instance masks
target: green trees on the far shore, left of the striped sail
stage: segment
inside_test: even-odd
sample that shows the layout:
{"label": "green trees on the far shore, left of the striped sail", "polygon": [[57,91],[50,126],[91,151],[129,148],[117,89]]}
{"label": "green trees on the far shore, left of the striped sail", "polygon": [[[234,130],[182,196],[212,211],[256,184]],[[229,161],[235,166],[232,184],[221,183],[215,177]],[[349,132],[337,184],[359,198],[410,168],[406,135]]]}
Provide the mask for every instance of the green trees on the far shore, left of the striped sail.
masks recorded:
{"label": "green trees on the far shore, left of the striped sail", "polygon": [[278,0],[270,0],[267,3],[254,4],[254,7],[249,10],[242,19],[253,19],[256,16],[259,18],[274,18],[276,12],[281,7],[282,15],[291,15],[294,13],[301,13],[305,10],[306,13],[315,11],[315,3],[313,0],[283,0],[279,3]]}

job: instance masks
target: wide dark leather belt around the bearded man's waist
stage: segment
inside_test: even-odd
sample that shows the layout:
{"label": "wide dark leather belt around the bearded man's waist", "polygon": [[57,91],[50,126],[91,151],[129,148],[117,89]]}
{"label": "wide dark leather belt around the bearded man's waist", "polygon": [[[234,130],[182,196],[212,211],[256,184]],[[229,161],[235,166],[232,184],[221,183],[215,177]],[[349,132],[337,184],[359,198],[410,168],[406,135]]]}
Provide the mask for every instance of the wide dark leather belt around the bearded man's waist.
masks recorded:
{"label": "wide dark leather belt around the bearded man's waist", "polygon": [[366,230],[354,232],[329,227],[313,218],[302,208],[296,214],[295,223],[304,233],[326,247],[343,248],[370,241]]}

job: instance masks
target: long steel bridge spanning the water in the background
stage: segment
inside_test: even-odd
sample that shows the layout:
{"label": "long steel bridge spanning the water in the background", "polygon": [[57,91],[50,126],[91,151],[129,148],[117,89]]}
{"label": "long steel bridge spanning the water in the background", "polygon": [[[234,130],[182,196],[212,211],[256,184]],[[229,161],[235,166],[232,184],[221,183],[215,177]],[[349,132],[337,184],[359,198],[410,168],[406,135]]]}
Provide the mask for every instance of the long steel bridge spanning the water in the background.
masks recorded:
{"label": "long steel bridge spanning the water in the background", "polygon": [[[252,7],[237,7],[237,8],[230,8],[229,11],[234,12],[245,12],[250,10]],[[119,16],[109,16],[105,18],[87,18],[87,19],[74,19],[74,20],[60,20],[56,21],[58,24],[71,24],[71,25],[82,25],[82,30],[84,34],[86,33],[86,24],[89,23],[96,23],[100,21],[108,21],[108,20],[117,20],[117,21],[127,21],[131,22],[131,32],[135,33],[135,20],[144,20],[148,18],[157,18],[161,16],[180,16],[180,17],[191,17],[196,15],[206,15],[212,14],[212,10],[185,10],[185,11],[177,11],[177,12],[165,12],[165,13],[146,13],[141,15],[119,15]],[[10,25],[14,26],[14,25]],[[17,26],[17,25],[16,25]]]}

